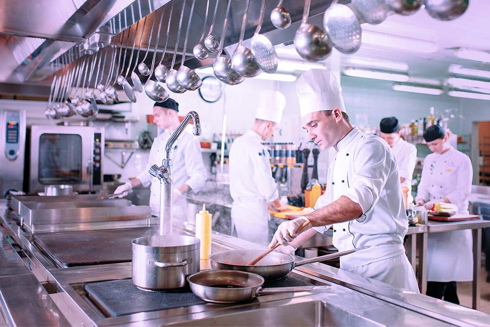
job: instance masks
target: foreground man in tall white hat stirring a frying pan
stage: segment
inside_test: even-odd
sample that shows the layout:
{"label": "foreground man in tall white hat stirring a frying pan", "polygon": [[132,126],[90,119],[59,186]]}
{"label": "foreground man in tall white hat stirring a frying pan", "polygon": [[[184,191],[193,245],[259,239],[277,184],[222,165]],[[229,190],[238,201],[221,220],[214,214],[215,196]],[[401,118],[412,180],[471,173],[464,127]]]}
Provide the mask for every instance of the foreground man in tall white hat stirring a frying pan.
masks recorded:
{"label": "foreground man in tall white hat stirring a frying pan", "polygon": [[[270,247],[278,242],[297,248],[333,225],[333,244],[339,251],[369,246],[342,256],[341,269],[418,292],[403,247],[408,220],[390,147],[378,136],[350,124],[341,87],[329,71],[304,73],[296,82],[296,91],[301,124],[309,140],[321,150],[333,147],[337,154],[328,168],[326,192],[315,210],[279,225]],[[310,224],[298,232],[308,221]]]}

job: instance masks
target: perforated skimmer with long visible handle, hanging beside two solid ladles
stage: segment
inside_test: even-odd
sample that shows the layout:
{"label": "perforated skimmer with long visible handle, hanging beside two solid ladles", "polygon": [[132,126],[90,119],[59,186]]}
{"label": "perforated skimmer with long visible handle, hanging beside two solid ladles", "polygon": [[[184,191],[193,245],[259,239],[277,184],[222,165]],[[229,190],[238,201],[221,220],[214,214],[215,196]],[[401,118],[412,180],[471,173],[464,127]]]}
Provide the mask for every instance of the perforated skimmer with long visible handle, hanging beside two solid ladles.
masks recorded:
{"label": "perforated skimmer with long visible handle, hanging beside two solid ladles", "polygon": [[262,34],[259,34],[264,20],[264,11],[266,8],[266,0],[262,0],[260,6],[260,16],[257,29],[252,37],[250,50],[252,51],[255,61],[259,67],[266,73],[273,74],[277,71],[278,58],[277,53],[269,39]]}

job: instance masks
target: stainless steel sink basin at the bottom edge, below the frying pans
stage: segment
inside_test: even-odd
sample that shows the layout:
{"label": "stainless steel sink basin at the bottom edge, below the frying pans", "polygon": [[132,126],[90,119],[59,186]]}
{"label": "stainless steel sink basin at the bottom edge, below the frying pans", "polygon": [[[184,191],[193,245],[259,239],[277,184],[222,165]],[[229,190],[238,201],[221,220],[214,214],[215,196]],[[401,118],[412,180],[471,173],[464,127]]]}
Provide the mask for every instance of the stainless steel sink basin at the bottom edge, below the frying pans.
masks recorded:
{"label": "stainless steel sink basin at the bottom edge, below the frying pans", "polygon": [[386,326],[322,301],[247,310],[172,326]]}

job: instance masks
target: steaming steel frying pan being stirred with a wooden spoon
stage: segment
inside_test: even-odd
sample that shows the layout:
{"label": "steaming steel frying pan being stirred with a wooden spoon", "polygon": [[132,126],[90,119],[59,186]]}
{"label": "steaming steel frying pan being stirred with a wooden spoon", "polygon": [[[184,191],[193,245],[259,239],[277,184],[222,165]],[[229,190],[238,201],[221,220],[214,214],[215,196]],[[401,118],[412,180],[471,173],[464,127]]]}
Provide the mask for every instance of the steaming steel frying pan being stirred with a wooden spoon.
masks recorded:
{"label": "steaming steel frying pan being stirred with a wooden spoon", "polygon": [[369,246],[347,250],[327,255],[322,255],[312,259],[294,262],[294,256],[281,252],[271,252],[254,266],[247,265],[248,262],[262,254],[262,250],[226,250],[212,253],[209,256],[213,269],[241,270],[249,273],[258,274],[265,279],[278,279],[288,275],[293,268],[307,263],[331,260],[340,256],[364,250]]}

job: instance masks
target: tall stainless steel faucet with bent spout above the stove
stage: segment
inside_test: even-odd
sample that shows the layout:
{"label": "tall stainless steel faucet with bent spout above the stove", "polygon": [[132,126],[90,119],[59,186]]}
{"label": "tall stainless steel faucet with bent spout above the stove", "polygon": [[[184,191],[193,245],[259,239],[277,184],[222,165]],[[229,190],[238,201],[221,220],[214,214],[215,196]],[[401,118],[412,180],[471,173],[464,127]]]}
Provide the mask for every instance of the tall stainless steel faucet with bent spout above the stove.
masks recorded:
{"label": "tall stainless steel faucet with bent spout above the stove", "polygon": [[194,135],[201,135],[199,115],[196,111],[190,111],[167,141],[165,145],[166,157],[162,160],[162,166],[158,167],[158,165],[153,165],[149,169],[149,173],[152,176],[160,179],[160,235],[172,235],[173,180],[170,152],[172,151],[173,144],[191,120],[194,122]]}

